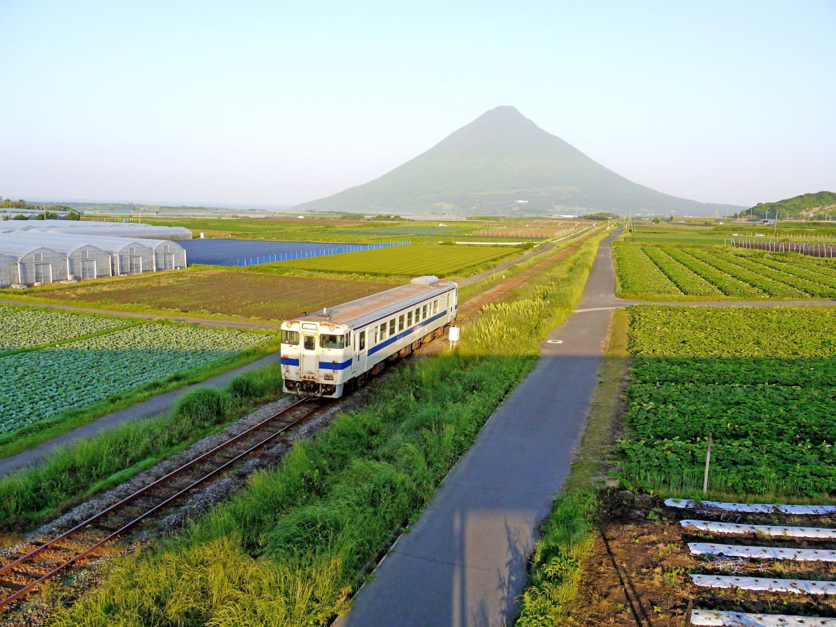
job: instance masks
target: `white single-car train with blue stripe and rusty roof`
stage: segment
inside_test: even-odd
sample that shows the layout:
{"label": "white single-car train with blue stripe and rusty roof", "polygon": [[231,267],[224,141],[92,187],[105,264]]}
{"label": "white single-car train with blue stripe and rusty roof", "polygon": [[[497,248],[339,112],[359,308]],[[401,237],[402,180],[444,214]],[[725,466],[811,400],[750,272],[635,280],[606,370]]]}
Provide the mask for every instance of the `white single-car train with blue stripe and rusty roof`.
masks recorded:
{"label": "white single-car train with blue stripe and rusty roof", "polygon": [[418,277],[282,324],[284,391],[339,398],[347,385],[383,370],[443,333],[456,319],[457,285]]}

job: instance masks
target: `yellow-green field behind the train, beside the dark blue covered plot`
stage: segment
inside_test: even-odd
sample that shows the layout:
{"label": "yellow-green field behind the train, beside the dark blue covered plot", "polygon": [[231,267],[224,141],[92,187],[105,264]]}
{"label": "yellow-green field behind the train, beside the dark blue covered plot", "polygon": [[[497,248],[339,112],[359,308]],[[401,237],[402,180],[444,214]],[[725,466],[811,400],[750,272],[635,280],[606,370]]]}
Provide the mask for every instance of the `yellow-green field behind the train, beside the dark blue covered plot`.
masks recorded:
{"label": "yellow-green field behind the train, beside the dark blue covered plot", "polygon": [[447,276],[491,262],[517,252],[512,246],[444,246],[441,244],[412,244],[362,252],[346,252],[329,257],[313,257],[282,262],[278,268],[300,268],[335,273]]}

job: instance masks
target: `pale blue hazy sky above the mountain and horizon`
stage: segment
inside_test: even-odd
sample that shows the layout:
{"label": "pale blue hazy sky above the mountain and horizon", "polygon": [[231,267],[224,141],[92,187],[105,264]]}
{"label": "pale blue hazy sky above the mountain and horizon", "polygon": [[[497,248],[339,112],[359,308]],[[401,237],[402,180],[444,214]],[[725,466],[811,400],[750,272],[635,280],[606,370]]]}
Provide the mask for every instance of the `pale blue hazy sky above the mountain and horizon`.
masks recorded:
{"label": "pale blue hazy sky above the mountain and horizon", "polygon": [[0,195],[292,204],[499,104],[699,201],[836,190],[836,2],[0,0]]}

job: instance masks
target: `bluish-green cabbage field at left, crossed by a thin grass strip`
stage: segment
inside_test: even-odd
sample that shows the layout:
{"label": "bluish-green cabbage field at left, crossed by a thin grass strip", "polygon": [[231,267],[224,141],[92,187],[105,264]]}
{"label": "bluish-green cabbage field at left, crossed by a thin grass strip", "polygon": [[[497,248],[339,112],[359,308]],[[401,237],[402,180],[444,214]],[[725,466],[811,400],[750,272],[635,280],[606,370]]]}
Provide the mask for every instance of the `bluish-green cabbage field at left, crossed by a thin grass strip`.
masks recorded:
{"label": "bluish-green cabbage field at left, crossed by a thin grass strip", "polygon": [[131,324],[94,315],[4,308],[0,350],[31,350],[0,352],[0,435],[185,374],[269,337],[232,329]]}

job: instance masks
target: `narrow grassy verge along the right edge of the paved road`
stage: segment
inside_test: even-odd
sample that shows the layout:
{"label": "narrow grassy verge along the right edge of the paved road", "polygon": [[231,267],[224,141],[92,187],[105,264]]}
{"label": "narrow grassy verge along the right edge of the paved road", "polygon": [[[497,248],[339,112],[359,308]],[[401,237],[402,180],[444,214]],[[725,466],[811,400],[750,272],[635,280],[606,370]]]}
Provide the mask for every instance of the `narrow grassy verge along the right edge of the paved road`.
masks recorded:
{"label": "narrow grassy verge along the right edge of the paved road", "polygon": [[594,546],[598,496],[593,482],[609,463],[624,405],[630,370],[627,352],[629,314],[614,311],[604,361],[599,369],[589,421],[563,492],[540,530],[528,587],[523,593],[517,625],[559,625],[579,614],[578,589],[584,562]]}

